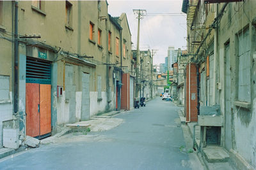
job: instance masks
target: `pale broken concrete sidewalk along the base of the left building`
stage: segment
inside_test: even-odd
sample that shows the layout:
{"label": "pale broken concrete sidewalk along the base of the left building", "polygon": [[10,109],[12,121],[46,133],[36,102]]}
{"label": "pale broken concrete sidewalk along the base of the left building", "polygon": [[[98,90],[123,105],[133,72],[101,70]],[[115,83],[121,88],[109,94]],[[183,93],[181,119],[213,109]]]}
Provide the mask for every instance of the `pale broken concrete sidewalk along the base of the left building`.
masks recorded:
{"label": "pale broken concrete sidewalk along the base of the left building", "polygon": [[[50,143],[55,143],[58,141],[61,136],[65,136],[66,134],[69,134],[71,132],[77,131],[77,127],[82,131],[88,131],[88,127],[90,128],[90,131],[108,131],[109,129],[116,127],[120,124],[122,124],[123,120],[120,118],[113,118],[118,113],[123,112],[124,110],[120,111],[110,111],[108,113],[100,114],[99,116],[94,116],[90,118],[88,121],[81,121],[76,122],[74,124],[67,124],[62,126],[57,126],[57,133],[53,136],[50,136],[45,139],[40,140],[40,145],[49,145]],[[70,125],[68,127],[68,125]],[[83,126],[86,127],[86,129],[83,129]],[[74,128],[76,127],[76,128]],[[82,128],[81,128],[82,127]],[[10,155],[13,155],[15,153],[21,152],[26,150],[26,146],[20,146],[18,149],[12,149],[12,148],[0,148],[0,159],[4,157],[8,157]]]}

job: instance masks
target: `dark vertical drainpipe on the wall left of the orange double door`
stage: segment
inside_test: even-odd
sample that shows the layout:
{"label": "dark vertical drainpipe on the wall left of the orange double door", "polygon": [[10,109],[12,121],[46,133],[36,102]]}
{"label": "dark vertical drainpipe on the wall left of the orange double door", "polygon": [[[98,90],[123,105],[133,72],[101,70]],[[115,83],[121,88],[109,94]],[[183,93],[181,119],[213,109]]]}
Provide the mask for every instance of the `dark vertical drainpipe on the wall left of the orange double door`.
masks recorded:
{"label": "dark vertical drainpipe on the wall left of the orange double door", "polygon": [[17,113],[19,97],[19,41],[18,41],[18,2],[15,1],[15,18],[14,18],[14,113]]}

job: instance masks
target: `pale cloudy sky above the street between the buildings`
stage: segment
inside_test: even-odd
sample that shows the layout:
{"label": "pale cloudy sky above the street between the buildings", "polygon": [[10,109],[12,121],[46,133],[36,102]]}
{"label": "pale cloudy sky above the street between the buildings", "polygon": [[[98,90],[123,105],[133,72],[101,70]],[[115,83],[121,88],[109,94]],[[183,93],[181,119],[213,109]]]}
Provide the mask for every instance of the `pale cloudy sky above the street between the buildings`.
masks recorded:
{"label": "pale cloudy sky above the street between the buildings", "polygon": [[108,0],[108,4],[108,13],[112,17],[126,13],[134,49],[137,46],[138,18],[132,10],[147,10],[140,22],[140,50],[157,50],[154,64],[164,63],[168,46],[186,50],[186,15],[181,12],[182,0]]}

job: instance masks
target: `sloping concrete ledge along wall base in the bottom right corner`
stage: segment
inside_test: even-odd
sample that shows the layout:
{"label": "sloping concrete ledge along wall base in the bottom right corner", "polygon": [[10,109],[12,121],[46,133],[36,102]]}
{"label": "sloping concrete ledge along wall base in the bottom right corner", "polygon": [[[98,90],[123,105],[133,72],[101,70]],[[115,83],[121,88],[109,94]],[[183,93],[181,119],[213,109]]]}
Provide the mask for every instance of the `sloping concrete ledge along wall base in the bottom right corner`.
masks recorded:
{"label": "sloping concrete ledge along wall base in the bottom right corner", "polygon": [[235,150],[230,149],[230,159],[238,169],[255,170],[244,158]]}

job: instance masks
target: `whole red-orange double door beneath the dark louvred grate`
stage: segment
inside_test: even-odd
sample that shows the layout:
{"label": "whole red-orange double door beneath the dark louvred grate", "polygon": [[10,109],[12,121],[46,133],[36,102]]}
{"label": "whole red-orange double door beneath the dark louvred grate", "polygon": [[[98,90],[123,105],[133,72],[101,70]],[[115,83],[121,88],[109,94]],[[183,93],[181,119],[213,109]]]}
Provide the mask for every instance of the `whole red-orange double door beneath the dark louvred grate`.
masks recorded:
{"label": "whole red-orange double door beneath the dark louvred grate", "polygon": [[51,132],[51,85],[26,83],[26,113],[28,136]]}

